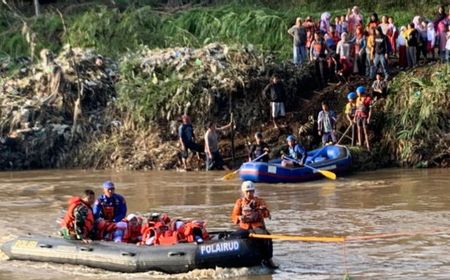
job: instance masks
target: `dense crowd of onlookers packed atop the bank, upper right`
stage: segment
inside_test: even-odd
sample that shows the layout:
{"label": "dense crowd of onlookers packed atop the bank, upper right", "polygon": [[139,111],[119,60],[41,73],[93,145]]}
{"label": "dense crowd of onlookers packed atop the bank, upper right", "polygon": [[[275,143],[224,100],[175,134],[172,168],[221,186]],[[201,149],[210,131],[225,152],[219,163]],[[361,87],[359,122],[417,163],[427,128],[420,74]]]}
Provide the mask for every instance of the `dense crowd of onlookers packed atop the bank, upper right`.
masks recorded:
{"label": "dense crowd of onlookers packed atop the bank, upper right", "polygon": [[438,8],[434,19],[415,16],[398,27],[394,18],[372,13],[365,20],[358,6],[345,15],[322,13],[320,19],[298,17],[288,33],[293,37],[293,63],[312,62],[322,83],[335,75],[345,82],[351,74],[374,79],[381,68],[390,75],[389,62],[398,59],[401,69],[438,58],[450,62],[450,9]]}

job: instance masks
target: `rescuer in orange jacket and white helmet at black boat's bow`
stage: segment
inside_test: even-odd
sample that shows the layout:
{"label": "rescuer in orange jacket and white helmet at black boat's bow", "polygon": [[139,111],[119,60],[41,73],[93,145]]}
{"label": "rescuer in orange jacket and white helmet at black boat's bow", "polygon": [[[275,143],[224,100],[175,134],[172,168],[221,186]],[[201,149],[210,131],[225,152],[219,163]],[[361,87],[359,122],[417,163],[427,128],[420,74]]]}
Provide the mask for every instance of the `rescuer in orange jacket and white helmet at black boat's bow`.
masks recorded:
{"label": "rescuer in orange jacket and white helmet at black boat's bow", "polygon": [[[233,224],[239,225],[239,230],[233,235],[246,237],[249,233],[270,234],[264,223],[264,218],[270,219],[270,212],[266,202],[255,196],[255,184],[252,181],[245,181],[241,185],[241,190],[244,196],[236,200],[231,213]],[[272,240],[256,241],[261,243],[259,247],[264,256],[263,264],[275,268],[276,265],[272,261]]]}

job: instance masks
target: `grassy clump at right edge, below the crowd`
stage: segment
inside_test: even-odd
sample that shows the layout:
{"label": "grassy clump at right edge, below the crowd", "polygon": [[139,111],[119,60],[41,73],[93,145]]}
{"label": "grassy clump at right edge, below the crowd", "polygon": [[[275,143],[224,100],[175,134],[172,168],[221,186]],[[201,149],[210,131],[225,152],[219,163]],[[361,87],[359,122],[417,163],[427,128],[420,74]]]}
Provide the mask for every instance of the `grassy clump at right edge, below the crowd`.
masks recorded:
{"label": "grassy clump at right edge, below the crowd", "polygon": [[450,67],[446,64],[399,74],[385,106],[382,144],[407,165],[436,164],[450,130]]}

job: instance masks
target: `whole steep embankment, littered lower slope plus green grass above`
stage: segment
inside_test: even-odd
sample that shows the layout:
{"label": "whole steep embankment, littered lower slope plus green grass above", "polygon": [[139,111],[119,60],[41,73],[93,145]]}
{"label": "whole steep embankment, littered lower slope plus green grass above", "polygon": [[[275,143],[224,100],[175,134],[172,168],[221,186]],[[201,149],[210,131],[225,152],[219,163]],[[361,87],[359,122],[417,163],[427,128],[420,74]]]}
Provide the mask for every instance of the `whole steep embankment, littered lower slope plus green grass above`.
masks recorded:
{"label": "whole steep embankment, littered lower slope plus green grass above", "polygon": [[[288,133],[314,148],[320,102],[342,112],[346,94],[370,84],[354,77],[319,89],[311,66],[280,62],[290,56],[291,20],[310,14],[299,8],[231,4],[164,15],[149,6],[89,5],[63,12],[65,25],[54,12],[29,19],[0,11],[1,169],[173,168],[183,113],[192,116],[198,136],[207,120],[225,124],[233,113],[238,160],[256,131],[264,132],[273,156]],[[63,49],[65,43],[84,49]],[[182,47],[156,49],[168,46]],[[54,62],[48,54],[37,62],[43,48],[57,52]],[[105,67],[95,65],[97,53],[109,56]],[[30,54],[33,62],[24,56]],[[273,73],[283,78],[289,100],[280,130],[267,125],[261,95]],[[448,66],[427,65],[394,78],[388,98],[374,108],[372,154],[353,150],[358,163],[368,163],[363,168],[448,166],[446,77]],[[344,131],[342,114],[341,120]],[[221,142],[226,158],[230,136]]]}

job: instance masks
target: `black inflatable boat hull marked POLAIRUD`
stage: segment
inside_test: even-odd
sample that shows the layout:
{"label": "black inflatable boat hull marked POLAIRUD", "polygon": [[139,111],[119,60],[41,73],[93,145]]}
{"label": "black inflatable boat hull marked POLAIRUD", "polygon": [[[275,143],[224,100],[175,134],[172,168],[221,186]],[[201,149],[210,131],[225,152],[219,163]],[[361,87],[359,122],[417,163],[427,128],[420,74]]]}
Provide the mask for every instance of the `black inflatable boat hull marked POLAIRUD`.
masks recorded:
{"label": "black inflatable boat hull marked POLAIRUD", "polygon": [[86,265],[119,272],[154,270],[165,273],[256,266],[267,254],[272,254],[271,243],[261,240],[232,238],[229,232],[211,236],[211,240],[202,244],[147,247],[105,241],[83,244],[59,237],[26,235],[4,243],[1,249],[12,260]]}

